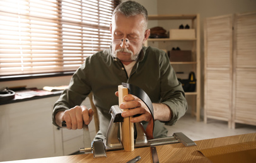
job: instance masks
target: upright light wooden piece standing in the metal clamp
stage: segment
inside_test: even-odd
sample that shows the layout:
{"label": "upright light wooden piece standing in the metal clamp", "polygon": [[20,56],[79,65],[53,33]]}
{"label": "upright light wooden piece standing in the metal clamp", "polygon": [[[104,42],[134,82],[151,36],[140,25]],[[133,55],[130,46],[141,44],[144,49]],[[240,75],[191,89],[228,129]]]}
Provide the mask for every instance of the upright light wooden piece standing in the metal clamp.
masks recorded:
{"label": "upright light wooden piece standing in the metal clamp", "polygon": [[[124,96],[128,95],[128,88],[122,85],[118,87],[119,92],[119,106],[124,101]],[[123,112],[125,110],[122,110]],[[120,138],[125,151],[134,150],[134,125],[130,122],[130,117],[124,118],[124,122],[121,122]]]}

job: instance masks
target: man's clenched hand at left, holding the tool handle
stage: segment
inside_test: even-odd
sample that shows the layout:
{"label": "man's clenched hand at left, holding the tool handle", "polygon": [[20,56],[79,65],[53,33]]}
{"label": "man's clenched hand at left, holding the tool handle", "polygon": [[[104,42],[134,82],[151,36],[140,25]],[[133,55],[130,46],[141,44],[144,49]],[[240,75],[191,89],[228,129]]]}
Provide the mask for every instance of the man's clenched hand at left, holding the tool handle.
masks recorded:
{"label": "man's clenched hand at left, holding the tool handle", "polygon": [[64,112],[57,112],[55,120],[57,125],[61,127],[61,122],[66,121],[67,129],[76,130],[83,128],[84,124],[90,124],[93,118],[93,110],[86,108],[84,105],[76,106]]}

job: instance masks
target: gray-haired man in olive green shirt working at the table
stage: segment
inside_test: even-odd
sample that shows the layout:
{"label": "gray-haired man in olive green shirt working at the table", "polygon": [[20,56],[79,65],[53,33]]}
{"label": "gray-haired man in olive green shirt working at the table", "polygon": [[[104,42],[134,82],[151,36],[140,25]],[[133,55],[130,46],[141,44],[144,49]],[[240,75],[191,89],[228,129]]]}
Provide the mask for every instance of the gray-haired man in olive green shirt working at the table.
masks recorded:
{"label": "gray-haired man in olive green shirt working at the table", "polygon": [[[150,30],[148,13],[134,1],[121,3],[112,15],[110,33],[112,45],[109,50],[86,58],[85,63],[74,73],[69,88],[64,90],[54,105],[53,124],[61,127],[66,121],[67,129],[82,129],[89,124],[93,110],[81,105],[84,98],[93,92],[100,130],[95,139],[104,139],[111,115],[112,105],[118,105],[118,85],[131,83],[146,92],[153,102],[154,138],[166,137],[166,125],[173,125],[187,110],[187,101],[175,71],[164,51],[144,47]],[[124,97],[120,108],[127,109],[122,117],[132,117],[131,122],[143,122],[144,128],[151,120],[151,113],[139,98]]]}

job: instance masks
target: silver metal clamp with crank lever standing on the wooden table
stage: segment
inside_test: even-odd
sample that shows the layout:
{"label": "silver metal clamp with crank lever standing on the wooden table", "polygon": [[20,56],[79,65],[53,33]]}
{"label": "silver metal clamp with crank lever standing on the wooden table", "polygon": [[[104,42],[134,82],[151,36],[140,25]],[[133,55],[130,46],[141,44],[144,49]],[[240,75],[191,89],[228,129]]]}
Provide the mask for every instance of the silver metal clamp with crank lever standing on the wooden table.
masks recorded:
{"label": "silver metal clamp with crank lever standing on the wooden table", "polygon": [[[84,125],[84,148],[80,149],[79,151],[84,152],[84,154],[93,153],[94,157],[106,157],[106,151],[123,149],[122,143],[119,139],[119,124],[123,121],[122,116],[120,116],[121,113],[122,111],[118,105],[114,105],[110,108],[112,118],[110,120],[110,124],[108,125],[106,139],[94,141],[92,147],[88,126]],[[185,136],[182,132],[174,133],[171,137],[148,140],[146,138],[146,134],[144,133],[143,126],[140,123],[135,123],[135,125],[137,131],[137,138],[134,145],[135,148],[153,147],[154,151],[154,146],[156,145],[173,144],[178,142],[182,142],[182,144],[184,144],[186,147],[196,145],[195,142]]]}

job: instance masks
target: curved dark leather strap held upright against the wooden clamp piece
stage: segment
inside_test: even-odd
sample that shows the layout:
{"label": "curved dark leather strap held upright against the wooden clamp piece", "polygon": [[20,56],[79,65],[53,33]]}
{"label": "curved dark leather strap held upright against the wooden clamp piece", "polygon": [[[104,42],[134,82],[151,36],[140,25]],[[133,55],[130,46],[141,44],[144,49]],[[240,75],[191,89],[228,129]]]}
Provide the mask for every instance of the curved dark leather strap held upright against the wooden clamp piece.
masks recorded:
{"label": "curved dark leather strap held upright against the wooden clamp piece", "polygon": [[[151,113],[151,120],[149,120],[148,125],[146,127],[146,137],[147,139],[153,139],[153,131],[154,131],[154,108],[150,98],[148,97],[147,93],[144,92],[141,88],[137,87],[136,85],[131,85],[129,83],[122,83],[122,85],[128,88],[128,93],[140,98],[146,106],[149,108],[149,112]],[[137,115],[136,115],[137,116]]]}

